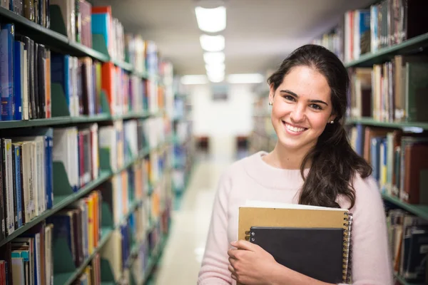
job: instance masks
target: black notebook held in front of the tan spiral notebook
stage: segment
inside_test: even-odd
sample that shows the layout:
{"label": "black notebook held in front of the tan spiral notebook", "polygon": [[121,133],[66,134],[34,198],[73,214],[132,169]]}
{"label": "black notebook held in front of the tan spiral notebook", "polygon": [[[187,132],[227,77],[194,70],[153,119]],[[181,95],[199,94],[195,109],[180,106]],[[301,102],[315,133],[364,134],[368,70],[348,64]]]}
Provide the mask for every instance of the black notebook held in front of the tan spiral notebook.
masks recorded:
{"label": "black notebook held in front of the tan spiral notebook", "polygon": [[342,283],[344,229],[251,227],[248,239],[279,264],[327,283]]}

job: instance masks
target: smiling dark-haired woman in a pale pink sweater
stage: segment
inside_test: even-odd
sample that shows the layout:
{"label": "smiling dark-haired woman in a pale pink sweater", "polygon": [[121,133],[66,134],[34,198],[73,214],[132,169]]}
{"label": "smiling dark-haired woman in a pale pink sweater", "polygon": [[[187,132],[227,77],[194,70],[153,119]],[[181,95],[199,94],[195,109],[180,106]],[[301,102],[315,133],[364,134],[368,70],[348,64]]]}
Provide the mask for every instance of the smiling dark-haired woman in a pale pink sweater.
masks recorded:
{"label": "smiling dark-haired woman in a pale pink sweater", "polygon": [[350,209],[353,284],[392,284],[382,199],[370,165],[352,150],[342,125],[349,86],[345,66],[326,48],[306,45],[267,82],[277,144],[223,173],[198,284],[326,284],[277,264],[255,244],[234,242],[238,207],[246,200]]}

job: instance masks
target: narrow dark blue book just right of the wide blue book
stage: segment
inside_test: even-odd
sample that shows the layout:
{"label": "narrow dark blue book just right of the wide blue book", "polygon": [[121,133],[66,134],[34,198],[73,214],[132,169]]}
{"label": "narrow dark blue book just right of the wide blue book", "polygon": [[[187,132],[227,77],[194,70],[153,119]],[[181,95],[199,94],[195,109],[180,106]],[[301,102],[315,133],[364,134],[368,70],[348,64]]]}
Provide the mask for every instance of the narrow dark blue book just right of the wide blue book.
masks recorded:
{"label": "narrow dark blue book just right of the wide blue book", "polygon": [[23,88],[24,88],[24,76],[21,71],[24,64],[24,43],[21,41],[15,41],[14,46],[14,104],[15,114],[14,120],[22,120],[22,101],[23,101]]}

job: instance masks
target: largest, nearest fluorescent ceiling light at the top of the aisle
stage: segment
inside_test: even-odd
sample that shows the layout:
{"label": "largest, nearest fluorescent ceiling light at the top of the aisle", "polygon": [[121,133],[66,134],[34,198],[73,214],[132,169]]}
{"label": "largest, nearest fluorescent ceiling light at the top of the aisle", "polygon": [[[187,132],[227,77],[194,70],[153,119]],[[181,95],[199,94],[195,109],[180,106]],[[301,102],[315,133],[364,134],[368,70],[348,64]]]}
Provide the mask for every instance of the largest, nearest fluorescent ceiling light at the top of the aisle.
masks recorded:
{"label": "largest, nearest fluorescent ceiling light at the top of the aisle", "polygon": [[201,31],[217,33],[226,28],[226,8],[219,6],[213,9],[195,7],[196,21]]}

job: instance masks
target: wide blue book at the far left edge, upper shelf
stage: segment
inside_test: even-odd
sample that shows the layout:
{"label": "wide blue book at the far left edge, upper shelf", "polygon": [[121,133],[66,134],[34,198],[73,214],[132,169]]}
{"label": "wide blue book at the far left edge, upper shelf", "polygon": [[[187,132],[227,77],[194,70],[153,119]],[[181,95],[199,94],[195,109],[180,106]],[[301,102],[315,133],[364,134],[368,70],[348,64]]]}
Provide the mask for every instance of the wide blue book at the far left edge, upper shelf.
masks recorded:
{"label": "wide blue book at the far left edge, upper shelf", "polygon": [[14,24],[0,31],[1,120],[14,120]]}

